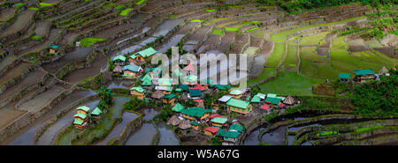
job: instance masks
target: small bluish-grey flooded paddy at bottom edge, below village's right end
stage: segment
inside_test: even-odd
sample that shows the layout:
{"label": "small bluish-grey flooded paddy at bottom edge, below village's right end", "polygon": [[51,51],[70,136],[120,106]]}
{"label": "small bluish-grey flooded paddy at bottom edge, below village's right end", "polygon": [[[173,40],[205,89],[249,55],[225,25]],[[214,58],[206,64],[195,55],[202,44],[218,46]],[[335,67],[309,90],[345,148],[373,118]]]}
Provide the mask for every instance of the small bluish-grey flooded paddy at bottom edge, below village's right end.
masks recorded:
{"label": "small bluish-grey flooded paddy at bottom edge, below village's right end", "polygon": [[263,144],[282,145],[285,144],[286,127],[279,127],[276,130],[267,132],[261,137]]}

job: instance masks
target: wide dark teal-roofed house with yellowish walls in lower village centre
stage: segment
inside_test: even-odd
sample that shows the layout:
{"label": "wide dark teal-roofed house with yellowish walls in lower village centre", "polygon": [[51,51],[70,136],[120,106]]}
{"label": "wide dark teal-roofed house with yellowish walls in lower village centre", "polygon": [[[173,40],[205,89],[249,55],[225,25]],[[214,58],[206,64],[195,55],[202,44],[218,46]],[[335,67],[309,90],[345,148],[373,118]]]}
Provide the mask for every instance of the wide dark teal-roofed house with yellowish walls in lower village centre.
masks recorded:
{"label": "wide dark teal-roofed house with yellowish walls in lower village centre", "polygon": [[210,113],[210,109],[203,109],[200,107],[188,107],[181,110],[182,117],[198,122],[206,121],[209,118]]}

